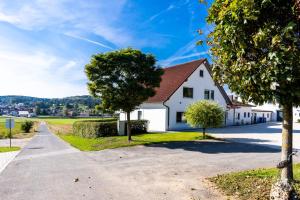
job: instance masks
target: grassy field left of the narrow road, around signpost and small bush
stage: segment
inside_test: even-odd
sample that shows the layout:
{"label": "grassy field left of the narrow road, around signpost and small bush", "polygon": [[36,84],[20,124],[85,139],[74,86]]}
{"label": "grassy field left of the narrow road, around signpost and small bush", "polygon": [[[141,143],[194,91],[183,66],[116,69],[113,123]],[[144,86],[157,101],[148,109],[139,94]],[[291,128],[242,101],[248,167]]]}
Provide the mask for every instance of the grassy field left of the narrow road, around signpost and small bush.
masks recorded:
{"label": "grassy field left of the narrow road, around signpost and small bush", "polygon": [[[1,138],[7,138],[9,134],[9,130],[5,127],[5,120],[6,117],[0,117],[0,139]],[[34,128],[32,129],[31,133],[22,133],[21,131],[21,124],[22,122],[26,120],[32,120],[32,119],[26,119],[26,118],[14,118],[15,120],[15,127],[12,129],[12,135],[13,138],[27,138],[32,137],[34,134]],[[33,120],[35,121],[35,120]]]}

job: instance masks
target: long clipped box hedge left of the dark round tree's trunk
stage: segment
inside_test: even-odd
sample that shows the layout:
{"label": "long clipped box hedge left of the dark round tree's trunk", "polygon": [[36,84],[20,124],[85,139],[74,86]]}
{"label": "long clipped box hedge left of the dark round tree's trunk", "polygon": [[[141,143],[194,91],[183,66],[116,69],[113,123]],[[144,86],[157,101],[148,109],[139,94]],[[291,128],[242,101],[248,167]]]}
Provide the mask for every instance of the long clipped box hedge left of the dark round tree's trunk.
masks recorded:
{"label": "long clipped box hedge left of the dark round tree's trunk", "polygon": [[73,135],[85,138],[97,138],[118,135],[117,122],[107,121],[77,121],[73,124]]}

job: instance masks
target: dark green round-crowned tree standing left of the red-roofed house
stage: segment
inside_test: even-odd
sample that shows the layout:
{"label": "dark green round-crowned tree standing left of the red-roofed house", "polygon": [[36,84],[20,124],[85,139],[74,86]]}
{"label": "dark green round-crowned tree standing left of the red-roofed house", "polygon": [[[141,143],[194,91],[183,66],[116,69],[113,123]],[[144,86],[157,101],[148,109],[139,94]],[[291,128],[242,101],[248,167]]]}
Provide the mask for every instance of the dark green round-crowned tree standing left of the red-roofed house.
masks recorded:
{"label": "dark green round-crowned tree standing left of the red-roofed house", "polygon": [[103,108],[126,112],[129,141],[130,112],[154,96],[160,85],[163,70],[155,63],[153,55],[127,48],[94,55],[85,66],[89,91],[101,98]]}

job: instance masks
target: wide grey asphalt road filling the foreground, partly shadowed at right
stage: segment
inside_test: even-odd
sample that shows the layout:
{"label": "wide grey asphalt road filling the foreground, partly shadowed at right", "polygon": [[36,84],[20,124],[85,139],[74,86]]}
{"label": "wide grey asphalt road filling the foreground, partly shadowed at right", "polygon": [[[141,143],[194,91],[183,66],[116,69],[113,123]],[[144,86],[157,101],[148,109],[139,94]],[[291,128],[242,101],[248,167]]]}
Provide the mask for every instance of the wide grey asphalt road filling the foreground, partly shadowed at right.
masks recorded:
{"label": "wide grey asphalt road filling the foreground, partly shadowed at right", "polygon": [[43,124],[0,174],[0,199],[222,199],[205,177],[272,167],[279,158],[278,149],[220,141],[80,152]]}

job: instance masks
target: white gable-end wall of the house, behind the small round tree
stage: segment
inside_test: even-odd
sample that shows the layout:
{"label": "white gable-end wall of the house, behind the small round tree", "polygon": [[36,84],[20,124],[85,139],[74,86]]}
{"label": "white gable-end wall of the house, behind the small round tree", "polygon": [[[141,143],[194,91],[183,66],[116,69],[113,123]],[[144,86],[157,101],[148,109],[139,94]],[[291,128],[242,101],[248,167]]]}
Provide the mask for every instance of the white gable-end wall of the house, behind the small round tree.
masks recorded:
{"label": "white gable-end wall of the house, behind the small round tree", "polygon": [[[204,70],[204,76],[200,77],[200,70]],[[193,88],[193,98],[183,97],[183,87]],[[170,97],[165,104],[170,108],[169,116],[169,130],[182,130],[191,128],[186,123],[176,122],[176,113],[185,112],[188,105],[199,100],[204,99],[204,90],[214,90],[214,101],[219,103],[224,110],[226,109],[226,101],[215,85],[212,77],[207,71],[206,67],[202,64],[198,67],[195,72],[184,82],[178,90]]]}

